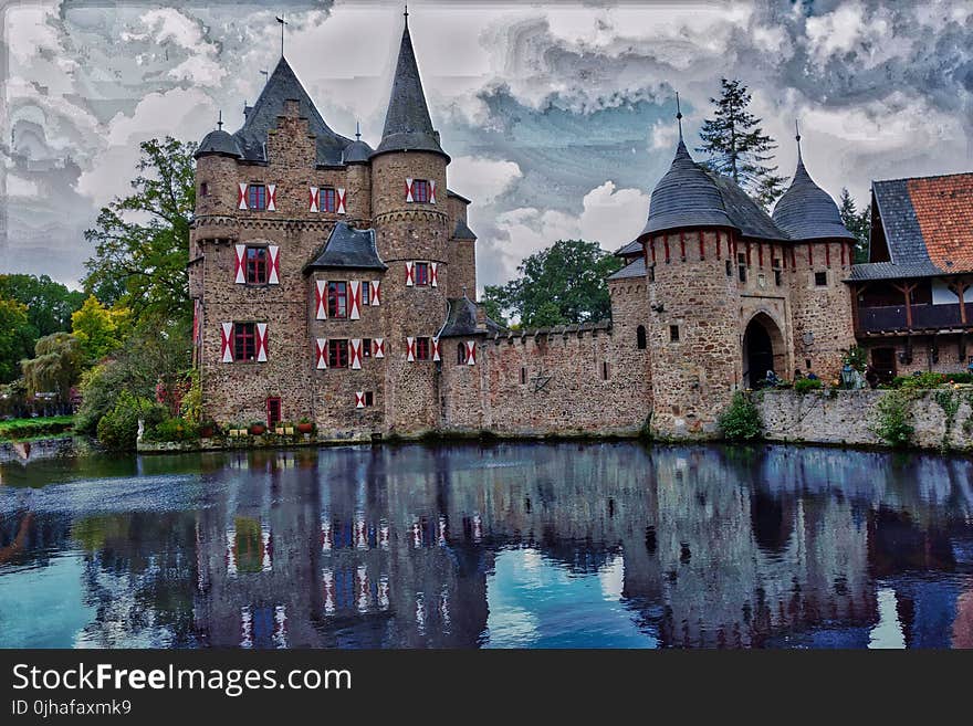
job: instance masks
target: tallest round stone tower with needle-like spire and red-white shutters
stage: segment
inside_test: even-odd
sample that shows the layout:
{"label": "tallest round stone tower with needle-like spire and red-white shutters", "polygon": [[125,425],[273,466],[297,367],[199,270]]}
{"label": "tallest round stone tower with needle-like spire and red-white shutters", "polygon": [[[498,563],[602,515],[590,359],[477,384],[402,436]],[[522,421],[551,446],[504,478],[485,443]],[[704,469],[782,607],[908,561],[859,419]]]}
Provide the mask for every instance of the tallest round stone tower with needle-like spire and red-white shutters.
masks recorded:
{"label": "tallest round stone tower with needle-like spire and red-white shutters", "polygon": [[389,431],[412,434],[439,423],[437,335],[446,320],[449,156],[432,128],[408,15],[381,143],[370,156],[372,218],[388,265],[383,285],[389,355]]}

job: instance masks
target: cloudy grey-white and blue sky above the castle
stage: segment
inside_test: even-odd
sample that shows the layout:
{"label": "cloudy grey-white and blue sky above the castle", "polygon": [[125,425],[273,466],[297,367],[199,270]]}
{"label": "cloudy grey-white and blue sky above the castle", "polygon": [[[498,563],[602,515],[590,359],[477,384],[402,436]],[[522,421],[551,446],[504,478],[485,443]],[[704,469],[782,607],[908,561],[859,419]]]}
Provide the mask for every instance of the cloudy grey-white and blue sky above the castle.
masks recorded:
{"label": "cloudy grey-white and blue sky above the castle", "polygon": [[[128,191],[138,143],[242,123],[286,55],[328,124],[376,146],[401,33],[388,2],[0,0],[0,272],[69,284],[97,209]],[[558,238],[608,250],[645,222],[720,77],[812,176],[866,200],[871,179],[973,169],[969,0],[412,2],[410,29],[450,188],[474,200],[480,284]]]}

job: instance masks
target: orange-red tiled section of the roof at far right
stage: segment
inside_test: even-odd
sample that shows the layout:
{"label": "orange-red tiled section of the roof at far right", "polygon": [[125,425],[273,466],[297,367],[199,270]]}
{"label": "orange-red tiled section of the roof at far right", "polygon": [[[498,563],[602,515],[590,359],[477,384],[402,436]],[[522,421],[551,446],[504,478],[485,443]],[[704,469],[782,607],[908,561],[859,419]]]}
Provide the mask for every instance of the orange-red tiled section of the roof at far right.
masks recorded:
{"label": "orange-red tiled section of the roof at far right", "polygon": [[909,179],[907,186],[933,264],[973,272],[973,172]]}

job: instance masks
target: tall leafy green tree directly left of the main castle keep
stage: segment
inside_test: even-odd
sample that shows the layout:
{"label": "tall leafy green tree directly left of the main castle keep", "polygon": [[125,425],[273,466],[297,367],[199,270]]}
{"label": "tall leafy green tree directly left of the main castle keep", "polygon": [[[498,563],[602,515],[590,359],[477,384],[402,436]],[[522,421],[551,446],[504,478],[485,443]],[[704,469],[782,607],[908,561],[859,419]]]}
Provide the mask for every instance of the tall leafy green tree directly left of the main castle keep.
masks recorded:
{"label": "tall leafy green tree directly left of the main castle keep", "polygon": [[195,144],[171,137],[140,145],[135,193],[115,199],[85,232],[95,245],[84,287],[121,303],[138,323],[189,318],[189,224],[196,204]]}

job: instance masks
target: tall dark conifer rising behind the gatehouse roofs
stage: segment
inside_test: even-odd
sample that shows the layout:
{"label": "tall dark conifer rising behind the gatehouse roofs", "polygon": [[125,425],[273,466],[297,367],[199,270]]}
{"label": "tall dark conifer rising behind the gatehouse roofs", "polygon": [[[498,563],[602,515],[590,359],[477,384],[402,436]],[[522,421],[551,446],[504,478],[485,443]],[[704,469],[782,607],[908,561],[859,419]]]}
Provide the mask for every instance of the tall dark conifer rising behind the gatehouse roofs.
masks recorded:
{"label": "tall dark conifer rising behind the gatehouse roofs", "polygon": [[722,95],[710,98],[716,111],[703,122],[702,146],[697,151],[710,156],[707,166],[731,177],[765,209],[784,193],[785,178],[777,167],[766,164],[777,148],[773,138],[761,128],[762,119],[747,111],[751,95],[740,81],[722,78]]}

